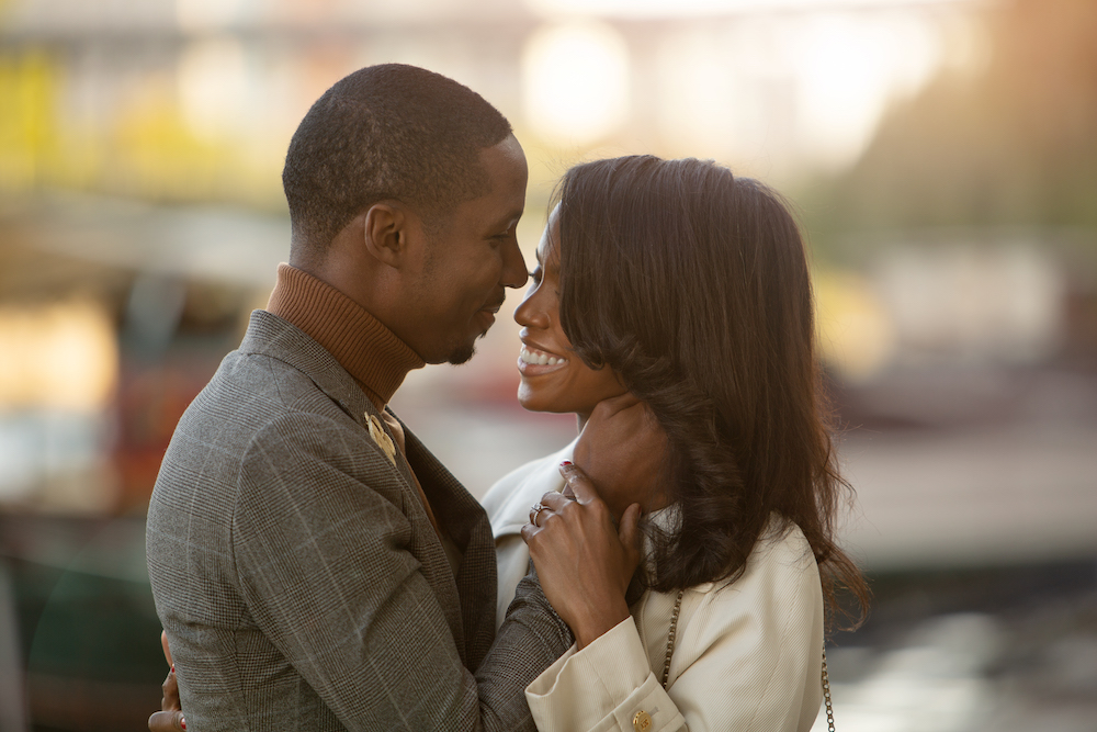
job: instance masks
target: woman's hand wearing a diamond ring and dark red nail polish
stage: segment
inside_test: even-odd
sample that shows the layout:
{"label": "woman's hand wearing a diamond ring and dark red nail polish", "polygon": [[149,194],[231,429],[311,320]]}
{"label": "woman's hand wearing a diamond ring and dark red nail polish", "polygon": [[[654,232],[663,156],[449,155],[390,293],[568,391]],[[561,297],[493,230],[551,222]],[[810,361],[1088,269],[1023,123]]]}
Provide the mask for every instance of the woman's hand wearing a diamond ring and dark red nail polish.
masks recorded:
{"label": "woman's hand wearing a diamond ring and dark red nail polish", "polygon": [[545,597],[583,649],[629,617],[624,595],[640,564],[640,504],[624,510],[618,529],[579,468],[565,462],[559,472],[575,499],[546,493],[522,539]]}

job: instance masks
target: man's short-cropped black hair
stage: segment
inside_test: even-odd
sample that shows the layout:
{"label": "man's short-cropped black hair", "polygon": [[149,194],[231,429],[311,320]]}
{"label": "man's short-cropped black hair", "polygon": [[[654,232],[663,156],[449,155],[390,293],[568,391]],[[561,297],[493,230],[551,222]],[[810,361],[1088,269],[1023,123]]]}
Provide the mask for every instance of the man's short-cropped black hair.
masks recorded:
{"label": "man's short-cropped black hair", "polygon": [[371,205],[395,199],[437,221],[488,192],[479,151],[511,134],[483,97],[404,64],[338,81],[297,126],[282,170],[294,246],[323,251]]}

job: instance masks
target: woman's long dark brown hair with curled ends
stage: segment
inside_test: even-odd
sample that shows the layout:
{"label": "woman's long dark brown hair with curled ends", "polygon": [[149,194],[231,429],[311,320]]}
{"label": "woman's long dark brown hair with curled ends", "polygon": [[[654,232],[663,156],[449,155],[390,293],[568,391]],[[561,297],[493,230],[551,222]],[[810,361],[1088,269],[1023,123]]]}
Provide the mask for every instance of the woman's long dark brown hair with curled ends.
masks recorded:
{"label": "woman's long dark brown hair with curled ends", "polygon": [[868,588],[834,538],[844,492],[795,222],[761,183],[711,161],[632,156],[572,168],[559,200],[559,317],[668,438],[680,529],[655,536],[648,586],[734,577],[770,514],[803,531],[828,618]]}

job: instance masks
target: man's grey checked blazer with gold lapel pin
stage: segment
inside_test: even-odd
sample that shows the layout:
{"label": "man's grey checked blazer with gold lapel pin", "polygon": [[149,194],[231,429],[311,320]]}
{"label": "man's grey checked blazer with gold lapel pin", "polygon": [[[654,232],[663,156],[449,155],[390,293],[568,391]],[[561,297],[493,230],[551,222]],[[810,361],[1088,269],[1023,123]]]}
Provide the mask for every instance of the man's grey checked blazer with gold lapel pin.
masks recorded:
{"label": "man's grey checked blazer with gold lapel pin", "polygon": [[495,638],[487,516],[407,431],[454,576],[370,414],[328,351],[256,311],[180,420],[146,542],[189,731],[533,729],[523,689],[567,627],[528,578]]}

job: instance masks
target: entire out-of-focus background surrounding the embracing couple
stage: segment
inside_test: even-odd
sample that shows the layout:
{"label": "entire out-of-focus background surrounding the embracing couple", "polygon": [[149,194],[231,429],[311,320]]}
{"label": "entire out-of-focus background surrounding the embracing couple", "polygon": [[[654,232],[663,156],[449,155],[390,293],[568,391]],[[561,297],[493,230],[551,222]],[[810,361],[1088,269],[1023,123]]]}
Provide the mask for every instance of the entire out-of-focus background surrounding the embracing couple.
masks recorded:
{"label": "entire out-of-focus background surrounding the embracing couple", "polygon": [[[0,732],[159,708],[160,457],[286,258],[293,129],[383,61],[512,121],[530,261],[576,161],[782,191],[875,593],[838,729],[1097,730],[1094,0],[0,0]],[[517,354],[394,399],[476,495],[575,433]]]}

